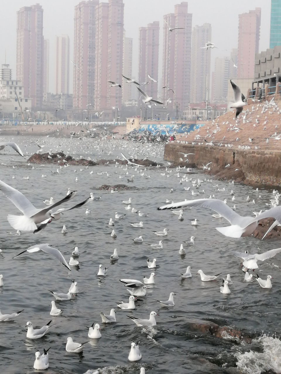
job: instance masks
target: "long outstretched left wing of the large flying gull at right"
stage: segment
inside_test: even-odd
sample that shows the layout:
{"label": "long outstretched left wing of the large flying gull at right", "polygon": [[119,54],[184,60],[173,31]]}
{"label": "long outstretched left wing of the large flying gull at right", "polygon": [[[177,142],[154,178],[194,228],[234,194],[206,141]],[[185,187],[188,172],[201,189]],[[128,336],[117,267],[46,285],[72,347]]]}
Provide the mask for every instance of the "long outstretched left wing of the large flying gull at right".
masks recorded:
{"label": "long outstretched left wing of the large flying gull at right", "polygon": [[[244,224],[243,221],[246,221],[245,227],[247,227],[248,224],[256,221],[256,218],[253,218],[253,217],[241,217],[241,215],[237,214],[235,211],[229,208],[229,206],[227,206],[222,200],[218,200],[218,199],[186,200],[186,201],[181,201],[178,203],[172,203],[172,204],[160,206],[158,210],[171,209],[171,208],[182,208],[183,206],[199,206],[200,208],[212,209],[215,212],[221,214],[232,225],[239,223],[239,226],[241,226],[241,224],[242,225]],[[249,218],[251,219],[251,221],[249,220]]]}

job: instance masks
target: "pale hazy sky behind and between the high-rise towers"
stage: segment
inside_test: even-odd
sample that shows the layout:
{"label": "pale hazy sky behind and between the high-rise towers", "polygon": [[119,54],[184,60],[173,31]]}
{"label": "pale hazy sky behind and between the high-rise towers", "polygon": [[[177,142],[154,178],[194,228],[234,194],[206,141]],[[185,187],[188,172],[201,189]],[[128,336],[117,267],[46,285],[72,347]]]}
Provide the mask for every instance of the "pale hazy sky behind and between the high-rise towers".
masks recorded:
{"label": "pale hazy sky behind and between the high-rise towers", "polygon": [[[107,1],[104,1],[107,2]],[[41,0],[43,13],[43,35],[50,41],[49,91],[54,92],[54,50],[55,36],[68,34],[70,37],[70,59],[73,56],[74,6],[79,0]],[[124,28],[126,36],[133,38],[133,75],[138,71],[139,27],[153,21],[160,21],[159,79],[161,79],[163,15],[174,12],[174,5],[181,0],[124,0]],[[0,64],[10,64],[15,78],[16,68],[16,11],[30,6],[35,1],[0,0]],[[256,7],[262,8],[260,51],[269,48],[270,0],[190,0],[188,12],[192,13],[192,26],[208,22],[212,25],[212,43],[226,51],[212,50],[212,67],[215,57],[229,56],[238,43],[238,15]],[[72,64],[71,64],[72,65]],[[70,93],[72,92],[73,67],[70,66]]]}

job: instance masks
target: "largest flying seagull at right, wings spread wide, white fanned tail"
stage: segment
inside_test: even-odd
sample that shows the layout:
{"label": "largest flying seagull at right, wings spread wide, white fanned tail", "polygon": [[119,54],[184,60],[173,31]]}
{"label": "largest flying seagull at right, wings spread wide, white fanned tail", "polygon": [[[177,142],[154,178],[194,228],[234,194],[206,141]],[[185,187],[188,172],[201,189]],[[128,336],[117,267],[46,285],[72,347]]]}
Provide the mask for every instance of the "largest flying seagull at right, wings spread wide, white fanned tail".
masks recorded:
{"label": "largest flying seagull at right, wings spread wide, white fanned tail", "polygon": [[221,214],[231,226],[227,227],[216,227],[218,232],[228,237],[244,237],[250,236],[254,230],[256,230],[257,223],[263,218],[273,217],[278,222],[281,222],[281,207],[276,206],[265,212],[262,212],[257,217],[242,217],[237,214],[232,208],[229,208],[222,200],[218,199],[197,199],[197,200],[185,200],[178,203],[172,203],[169,205],[163,205],[158,208],[171,209],[171,208],[182,208],[184,206],[199,206],[202,208],[209,208]]}

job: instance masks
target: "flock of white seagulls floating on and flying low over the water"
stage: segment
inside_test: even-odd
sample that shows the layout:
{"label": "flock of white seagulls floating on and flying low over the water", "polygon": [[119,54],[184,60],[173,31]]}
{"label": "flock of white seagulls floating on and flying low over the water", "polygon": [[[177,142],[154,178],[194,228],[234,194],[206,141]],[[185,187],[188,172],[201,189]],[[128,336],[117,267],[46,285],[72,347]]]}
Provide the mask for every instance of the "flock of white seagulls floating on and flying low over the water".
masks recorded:
{"label": "flock of white seagulls floating on and flying low over the water", "polygon": [[[49,142],[47,143],[47,140],[45,140],[46,143],[42,144],[39,149],[39,153],[42,153],[42,150],[45,148],[49,147],[49,152],[51,154],[54,154],[55,152],[58,152],[58,150],[55,150],[54,147],[52,146],[52,143]],[[74,141],[74,140],[60,140],[61,143],[67,142],[67,141]],[[91,142],[91,144],[90,144]],[[14,143],[12,143],[14,144]],[[6,143],[5,145],[11,145],[10,143]],[[26,144],[25,147],[29,147],[30,144]],[[52,147],[51,147],[52,146]],[[61,144],[60,147],[63,145]],[[81,146],[81,149],[78,150],[78,148]],[[17,145],[14,145],[11,147],[13,149],[17,149],[17,152],[21,154],[21,150],[19,150],[19,147]],[[122,178],[127,178],[129,175],[129,172],[134,175],[138,174],[139,178],[146,178],[150,179],[150,175],[148,176],[145,174],[145,168],[142,166],[139,166],[138,164],[134,163],[132,158],[145,158],[145,157],[153,157],[155,160],[157,160],[157,157],[161,157],[161,152],[163,152],[163,148],[161,150],[161,146],[158,144],[143,144],[141,147],[140,144],[130,144],[129,142],[126,141],[111,141],[111,142],[98,142],[95,141],[94,139],[84,139],[84,140],[76,140],[76,153],[79,153],[81,151],[84,152],[84,154],[99,154],[98,157],[107,157],[110,156],[113,151],[115,153],[120,152],[120,159],[127,160],[127,165],[121,165],[118,163],[120,159],[118,159],[115,156],[116,163],[115,165],[112,165],[112,168],[110,169],[110,172],[112,173],[112,169],[115,166],[116,174],[120,172],[120,179]],[[70,148],[69,148],[70,151]],[[122,152],[121,152],[122,151]],[[128,158],[123,154],[123,152],[126,152],[129,156]],[[143,157],[145,156],[145,157]],[[188,156],[188,154],[184,154],[184,156]],[[89,156],[90,157],[90,156]],[[131,161],[129,160],[129,157]],[[152,158],[151,157],[151,158]],[[64,167],[69,167],[67,162],[64,162]],[[207,165],[204,165],[204,168],[210,168],[211,167],[211,162]],[[58,174],[60,174],[60,169],[58,169]],[[81,170],[81,172],[87,172],[87,168]],[[76,170],[74,170],[76,172]],[[104,171],[102,172],[103,177],[106,178],[110,176],[110,172]],[[148,172],[146,170],[146,172]],[[279,197],[280,194],[278,191],[273,192],[272,198],[268,202],[268,206],[270,209],[266,210],[265,212],[255,212],[255,217],[242,217],[239,215],[235,210],[236,207],[235,205],[233,208],[230,208],[227,205],[227,199],[224,201],[222,200],[217,200],[214,198],[213,195],[211,195],[209,198],[203,198],[203,199],[198,199],[197,197],[199,195],[204,196],[205,190],[201,190],[202,184],[208,184],[208,186],[213,186],[214,192],[217,191],[217,193],[220,192],[226,192],[226,188],[219,188],[218,185],[212,184],[211,179],[205,179],[205,180],[200,180],[200,178],[194,178],[194,175],[191,174],[192,170],[187,169],[187,168],[181,168],[177,167],[176,172],[170,168],[169,163],[167,163],[166,166],[160,167],[160,165],[157,165],[155,167],[155,172],[158,173],[159,177],[174,177],[174,178],[179,178],[179,186],[180,188],[184,191],[185,195],[190,194],[194,200],[184,200],[178,203],[173,202],[171,199],[166,200],[166,205],[161,206],[159,209],[172,209],[172,216],[173,217],[178,217],[179,221],[184,220],[184,215],[185,215],[185,210],[190,209],[191,207],[202,207],[202,208],[209,208],[212,209],[213,211],[217,212],[217,215],[213,214],[213,217],[215,218],[225,218],[228,220],[231,224],[231,226],[228,227],[218,227],[217,230],[226,236],[229,237],[242,237],[242,236],[247,236],[251,235],[253,231],[257,227],[257,223],[260,219],[266,218],[266,217],[274,217],[276,219],[275,225],[279,224],[281,222],[281,207],[279,207]],[[92,171],[89,172],[89,174],[93,174]],[[100,173],[99,173],[100,174]],[[112,175],[112,174],[111,174]],[[155,174],[154,174],[155,175]],[[43,177],[43,175],[42,175]],[[193,188],[193,190],[190,191],[190,188]],[[231,184],[231,188],[235,188],[233,184]],[[233,189],[229,192],[230,199],[235,202],[236,198],[233,192]],[[62,205],[66,202],[69,202],[72,200],[75,195],[76,191],[71,191],[70,188],[66,191],[66,196],[55,202],[53,197],[51,197],[49,200],[43,200],[43,203],[45,204],[45,208],[42,209],[37,209],[33,206],[33,204],[27,199],[27,197],[24,196],[19,190],[16,190],[15,188],[9,186],[9,184],[0,181],[0,190],[4,195],[7,197],[7,199],[12,202],[16,208],[18,208],[21,212],[22,215],[8,215],[7,220],[10,223],[10,225],[15,229],[18,230],[18,234],[20,235],[21,232],[23,231],[31,231],[31,232],[38,232],[45,228],[49,223],[51,223],[52,220],[58,220],[61,218],[61,213],[66,212],[70,209],[73,208],[81,208],[84,204],[86,204],[88,201],[98,201],[100,199],[100,196],[94,196],[93,193],[84,200],[81,203],[76,204],[72,208],[69,209],[59,209],[55,210],[54,208],[57,208],[57,206]],[[112,189],[112,192],[117,193],[117,191],[114,191]],[[170,189],[170,193],[172,194],[174,192],[173,188]],[[259,193],[259,191],[257,191]],[[257,196],[256,200],[258,200],[260,196]],[[245,199],[245,202],[249,204],[249,206],[254,206],[255,205],[255,200],[248,202]],[[122,206],[124,210],[127,210],[131,212],[134,217],[138,215],[140,217],[141,221],[140,222],[132,222],[127,223],[133,228],[136,229],[142,229],[143,227],[146,226],[145,223],[145,217],[149,217],[149,213],[146,212],[141,212],[133,206],[134,203],[134,198],[130,197],[128,200],[123,200]],[[177,208],[183,208],[180,210],[176,210]],[[115,210],[115,209],[114,209]],[[91,210],[87,208],[85,214],[91,214]],[[110,218],[108,225],[110,227],[114,226],[116,221],[127,221],[127,213],[123,212],[115,212],[114,218]],[[1,217],[3,219],[3,216]],[[115,222],[115,223],[114,223]],[[194,218],[190,222],[191,226],[193,227],[198,227],[200,230],[200,220],[197,220]],[[172,226],[172,224],[170,225]],[[272,226],[273,228],[274,226]],[[272,229],[271,228],[271,229]],[[51,230],[51,227],[49,227],[49,230]],[[143,236],[137,236],[135,238],[132,238],[134,244],[145,244],[148,245],[151,249],[154,251],[158,250],[161,251],[163,249],[163,244],[165,245],[165,238],[169,236],[169,230],[170,228],[163,228],[163,230],[160,231],[152,231],[153,235],[155,238],[157,237],[159,240],[157,240],[157,243],[148,243],[144,242]],[[67,233],[67,229],[64,225],[63,229],[61,230],[63,234]],[[116,237],[118,233],[115,232],[115,230],[112,230],[111,237]],[[195,241],[194,241],[195,239]],[[180,249],[179,249],[179,254],[181,256],[184,256],[188,249],[190,249],[192,246],[195,246],[196,238],[194,236],[190,237],[190,241],[188,242],[183,242],[181,243]],[[137,246],[136,246],[137,248]],[[69,263],[65,260],[63,254],[57,249],[52,247],[48,243],[40,243],[36,244],[33,246],[30,246],[27,248],[25,251],[19,253],[15,257],[18,257],[19,255],[24,254],[25,252],[28,253],[34,253],[38,251],[43,251],[49,255],[54,256],[58,261],[60,261],[61,264],[63,264],[68,270],[71,270],[73,267],[79,265],[79,250],[78,247],[74,249],[72,252],[72,257],[70,257]],[[277,249],[272,249],[270,251],[261,253],[261,254],[249,254],[248,251],[245,253],[239,253],[239,252],[233,252],[233,255],[235,257],[239,257],[242,259],[243,263],[243,269],[245,272],[244,275],[244,281],[245,282],[253,282],[254,278],[257,279],[257,282],[259,282],[259,285],[262,288],[271,288],[272,283],[271,283],[271,275],[267,276],[267,279],[262,279],[260,278],[259,274],[257,273],[258,261],[265,261],[268,258],[271,258],[275,256],[276,254],[281,252],[281,248]],[[114,253],[111,254],[110,260],[115,262],[118,261],[118,250],[117,248],[114,249]],[[152,272],[148,277],[143,277],[143,279],[140,281],[139,279],[130,279],[130,278],[121,278],[120,281],[124,283],[124,285],[127,288],[127,291],[130,294],[129,300],[128,301],[122,301],[121,303],[117,303],[117,307],[122,309],[122,310],[134,310],[136,308],[135,306],[135,301],[138,300],[138,298],[143,298],[146,296],[146,292],[148,289],[151,291],[151,285],[155,284],[155,276],[157,272],[157,259],[153,258],[152,261],[147,259],[146,261],[148,269],[151,269]],[[253,271],[256,271],[254,276]],[[204,269],[201,270],[199,269],[197,271],[197,274],[200,276],[200,279],[202,282],[212,282],[212,281],[217,281],[222,278],[221,273],[220,274],[205,274]],[[97,269],[97,277],[106,277],[108,273],[108,269],[106,267],[103,267],[102,264],[99,265],[99,269]],[[192,278],[191,274],[191,266],[187,266],[187,269],[184,273],[181,273],[179,275],[181,279],[188,279]],[[233,285],[233,282],[231,280],[231,275],[227,274],[226,278],[223,278],[223,285],[220,286],[220,291],[223,294],[230,294],[231,286]],[[3,275],[0,275],[0,287],[4,286],[4,280],[3,280]],[[78,287],[78,282],[73,279],[68,292],[55,292],[52,290],[49,290],[50,294],[55,298],[55,301],[67,301],[71,300],[73,297],[77,297],[79,294],[79,287]],[[174,302],[174,296],[175,292],[171,291],[169,293],[169,298],[167,300],[158,300],[155,298],[155,300],[159,303],[159,305],[165,309],[170,308],[175,306]],[[142,299],[140,299],[141,301]],[[57,304],[53,300],[51,302],[51,310],[50,310],[50,315],[52,318],[61,316],[63,314],[63,310],[59,309]],[[12,321],[14,320],[19,314],[21,314],[23,310],[19,310],[18,312],[11,313],[11,314],[0,314],[0,321],[6,322],[6,321]],[[115,307],[112,307],[111,311],[109,314],[105,314],[103,312],[100,313],[100,317],[102,320],[103,324],[111,324],[116,322],[116,311]],[[158,316],[158,313],[155,311],[151,311],[149,318],[136,318],[132,314],[128,314],[128,318],[131,319],[137,326],[155,326],[157,324],[155,317]],[[26,337],[28,339],[40,339],[42,338],[46,333],[48,333],[49,328],[52,326],[53,320],[49,321],[46,323],[44,326],[41,328],[33,328],[33,325],[31,321],[28,321],[26,324],[27,327],[27,335]],[[90,327],[88,327],[88,338],[90,339],[99,339],[102,337],[102,334],[100,333],[100,325],[96,322],[94,322]],[[66,341],[66,351],[70,353],[80,353],[83,351],[85,348],[85,345],[88,343],[88,341],[79,343],[77,341],[73,341],[72,337],[67,337]],[[43,349],[43,353],[41,354],[39,351],[35,353],[35,361],[34,361],[34,368],[37,370],[44,370],[49,367],[49,349]],[[132,342],[128,360],[129,361],[139,361],[142,358],[141,355],[141,347],[139,347],[139,342]],[[145,368],[141,368],[141,374],[145,373]]]}

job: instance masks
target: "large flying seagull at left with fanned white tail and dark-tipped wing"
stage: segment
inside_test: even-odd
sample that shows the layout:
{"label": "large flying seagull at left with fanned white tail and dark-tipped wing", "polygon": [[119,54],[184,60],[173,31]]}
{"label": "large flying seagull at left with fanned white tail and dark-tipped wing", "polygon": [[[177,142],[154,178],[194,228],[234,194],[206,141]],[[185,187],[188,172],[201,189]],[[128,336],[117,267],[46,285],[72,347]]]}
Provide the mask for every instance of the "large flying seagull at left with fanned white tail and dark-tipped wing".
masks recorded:
{"label": "large flying seagull at left with fanned white tail and dark-tipped wing", "polygon": [[[23,215],[7,215],[7,220],[13,229],[21,231],[37,230],[36,224],[52,216],[52,211],[49,208],[35,208],[21,192],[2,181],[0,181],[0,190],[23,213]],[[72,199],[76,195],[76,192],[72,191],[68,196],[54,203],[52,208]]]}

